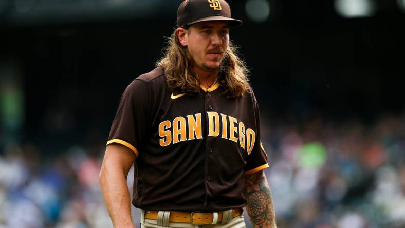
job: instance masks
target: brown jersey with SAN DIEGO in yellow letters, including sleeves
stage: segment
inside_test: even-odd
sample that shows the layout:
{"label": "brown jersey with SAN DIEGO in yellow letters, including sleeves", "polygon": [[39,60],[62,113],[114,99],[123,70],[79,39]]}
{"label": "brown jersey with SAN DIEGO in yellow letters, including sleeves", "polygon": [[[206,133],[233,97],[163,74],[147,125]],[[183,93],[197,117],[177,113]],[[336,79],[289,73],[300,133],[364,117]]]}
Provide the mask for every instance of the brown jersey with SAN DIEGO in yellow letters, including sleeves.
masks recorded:
{"label": "brown jersey with SAN DIEGO in yellow letters, including sleeves", "polygon": [[145,210],[243,207],[245,174],[268,167],[253,92],[227,98],[218,83],[195,96],[170,92],[164,71],[124,91],[108,144],[136,154],[133,204]]}

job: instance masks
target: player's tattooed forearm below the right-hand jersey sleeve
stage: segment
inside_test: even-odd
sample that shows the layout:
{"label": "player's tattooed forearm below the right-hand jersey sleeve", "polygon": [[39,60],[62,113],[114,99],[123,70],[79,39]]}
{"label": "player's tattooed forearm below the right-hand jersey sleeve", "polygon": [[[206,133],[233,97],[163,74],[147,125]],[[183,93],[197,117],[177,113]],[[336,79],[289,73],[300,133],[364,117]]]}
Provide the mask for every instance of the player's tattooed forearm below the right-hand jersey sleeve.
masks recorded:
{"label": "player's tattooed forearm below the right-hand jersey sleeve", "polygon": [[245,176],[246,210],[253,227],[277,227],[271,191],[263,170]]}

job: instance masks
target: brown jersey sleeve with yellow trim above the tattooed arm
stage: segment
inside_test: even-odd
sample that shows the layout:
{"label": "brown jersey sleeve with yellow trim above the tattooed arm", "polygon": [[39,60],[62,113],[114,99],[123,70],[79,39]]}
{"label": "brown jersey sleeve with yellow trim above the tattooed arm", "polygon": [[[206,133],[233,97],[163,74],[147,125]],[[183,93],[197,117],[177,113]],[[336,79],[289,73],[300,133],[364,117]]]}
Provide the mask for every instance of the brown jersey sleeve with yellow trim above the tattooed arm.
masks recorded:
{"label": "brown jersey sleeve with yellow trim above the tattooed arm", "polygon": [[[252,92],[253,93],[253,92]],[[256,123],[256,137],[251,153],[249,154],[246,165],[244,167],[245,174],[253,174],[262,169],[269,167],[267,163],[267,154],[260,140],[260,112],[254,94],[252,94],[252,102],[254,103],[254,117]]]}

